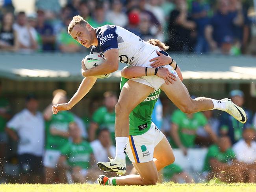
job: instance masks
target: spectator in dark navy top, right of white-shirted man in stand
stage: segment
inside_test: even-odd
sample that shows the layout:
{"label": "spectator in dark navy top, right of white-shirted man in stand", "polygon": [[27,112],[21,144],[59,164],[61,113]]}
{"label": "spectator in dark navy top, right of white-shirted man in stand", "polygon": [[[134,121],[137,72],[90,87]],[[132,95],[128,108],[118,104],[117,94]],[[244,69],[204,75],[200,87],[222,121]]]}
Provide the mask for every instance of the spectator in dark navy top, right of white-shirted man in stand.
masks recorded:
{"label": "spectator in dark navy top, right of white-shirted man in stand", "polygon": [[37,25],[35,30],[40,36],[43,51],[53,51],[55,49],[56,36],[50,24],[46,23],[45,11],[37,10]]}

